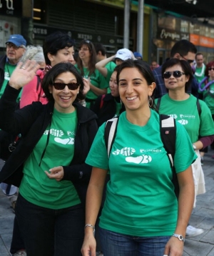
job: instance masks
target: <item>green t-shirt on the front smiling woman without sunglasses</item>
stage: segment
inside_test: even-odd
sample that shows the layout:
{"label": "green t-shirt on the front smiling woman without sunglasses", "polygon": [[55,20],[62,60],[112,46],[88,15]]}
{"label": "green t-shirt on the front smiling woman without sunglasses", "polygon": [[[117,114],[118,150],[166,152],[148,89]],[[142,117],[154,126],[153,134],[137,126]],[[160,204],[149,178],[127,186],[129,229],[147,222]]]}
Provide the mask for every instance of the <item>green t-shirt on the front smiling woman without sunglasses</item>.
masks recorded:
{"label": "green t-shirt on the front smiling woman without sunglasses", "polygon": [[[110,170],[100,226],[140,237],[172,235],[178,201],[171,182],[170,162],[161,141],[159,115],[151,110],[148,123],[140,127],[128,122],[123,112],[109,160],[104,127],[105,124],[98,129],[86,159],[93,167]],[[176,137],[175,169],[183,172],[196,156],[187,132],[179,123]]]}

